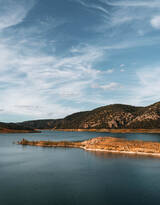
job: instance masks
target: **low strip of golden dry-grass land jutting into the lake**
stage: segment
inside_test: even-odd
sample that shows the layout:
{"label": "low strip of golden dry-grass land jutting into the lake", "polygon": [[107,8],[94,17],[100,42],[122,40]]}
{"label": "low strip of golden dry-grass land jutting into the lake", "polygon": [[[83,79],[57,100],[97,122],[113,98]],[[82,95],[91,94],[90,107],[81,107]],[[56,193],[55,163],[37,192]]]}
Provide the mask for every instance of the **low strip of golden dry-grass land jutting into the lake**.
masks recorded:
{"label": "low strip of golden dry-grass land jutting into the lake", "polygon": [[113,137],[96,137],[85,141],[28,141],[23,139],[17,142],[19,145],[39,146],[39,147],[64,147],[81,148],[89,151],[103,151],[119,154],[136,154],[160,157],[160,143],[125,140]]}

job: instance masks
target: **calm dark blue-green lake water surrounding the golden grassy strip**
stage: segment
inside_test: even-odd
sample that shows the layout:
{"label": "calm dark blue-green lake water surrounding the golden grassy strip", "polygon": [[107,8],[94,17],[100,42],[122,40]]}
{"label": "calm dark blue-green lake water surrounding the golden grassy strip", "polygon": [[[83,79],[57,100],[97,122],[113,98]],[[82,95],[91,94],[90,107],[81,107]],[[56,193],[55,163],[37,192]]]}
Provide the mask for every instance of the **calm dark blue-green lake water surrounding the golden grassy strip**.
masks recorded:
{"label": "calm dark blue-green lake water surrounding the golden grassy strip", "polygon": [[0,205],[159,205],[160,159],[12,144],[96,136],[160,142],[159,134],[1,134]]}

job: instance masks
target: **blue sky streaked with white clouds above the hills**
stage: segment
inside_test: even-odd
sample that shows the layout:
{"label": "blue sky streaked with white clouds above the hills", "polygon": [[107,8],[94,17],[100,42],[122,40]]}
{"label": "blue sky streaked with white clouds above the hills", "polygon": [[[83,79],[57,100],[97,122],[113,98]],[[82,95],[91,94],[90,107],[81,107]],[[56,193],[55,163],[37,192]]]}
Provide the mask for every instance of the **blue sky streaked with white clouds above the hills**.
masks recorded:
{"label": "blue sky streaked with white clouds above the hills", "polygon": [[0,121],[160,101],[159,0],[0,0]]}

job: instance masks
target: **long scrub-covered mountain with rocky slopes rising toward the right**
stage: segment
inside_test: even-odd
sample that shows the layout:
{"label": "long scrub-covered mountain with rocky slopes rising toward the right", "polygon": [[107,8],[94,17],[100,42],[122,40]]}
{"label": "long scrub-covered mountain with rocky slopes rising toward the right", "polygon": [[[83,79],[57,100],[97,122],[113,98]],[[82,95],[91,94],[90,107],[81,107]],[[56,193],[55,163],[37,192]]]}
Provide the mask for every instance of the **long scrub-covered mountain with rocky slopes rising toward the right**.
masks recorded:
{"label": "long scrub-covered mountain with rocky slopes rising toward the right", "polygon": [[32,129],[159,129],[160,102],[147,107],[113,104],[63,119],[19,123]]}

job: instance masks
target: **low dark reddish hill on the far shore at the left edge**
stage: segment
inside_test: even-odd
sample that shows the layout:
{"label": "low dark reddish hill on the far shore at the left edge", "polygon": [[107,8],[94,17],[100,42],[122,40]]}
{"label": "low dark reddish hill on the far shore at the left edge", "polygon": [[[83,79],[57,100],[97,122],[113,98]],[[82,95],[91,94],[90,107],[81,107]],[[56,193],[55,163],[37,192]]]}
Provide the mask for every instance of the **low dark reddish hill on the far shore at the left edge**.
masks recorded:
{"label": "low dark reddish hill on the far shore at the left edge", "polygon": [[0,133],[29,133],[36,132],[31,127],[25,125],[19,125],[17,123],[4,123],[0,122]]}

